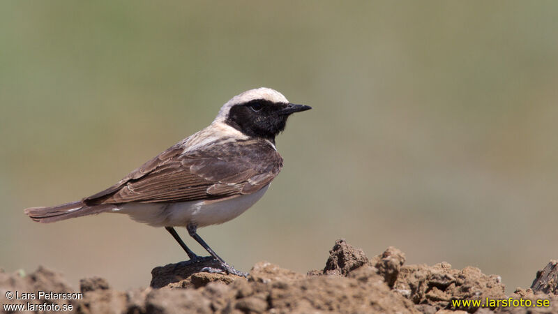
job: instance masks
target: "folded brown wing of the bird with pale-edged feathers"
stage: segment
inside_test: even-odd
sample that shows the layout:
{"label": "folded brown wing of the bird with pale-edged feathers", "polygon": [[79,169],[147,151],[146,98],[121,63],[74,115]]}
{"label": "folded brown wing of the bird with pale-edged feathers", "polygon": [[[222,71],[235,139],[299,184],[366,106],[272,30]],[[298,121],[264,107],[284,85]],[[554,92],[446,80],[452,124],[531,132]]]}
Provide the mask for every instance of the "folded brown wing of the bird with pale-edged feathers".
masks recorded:
{"label": "folded brown wing of the bird with pale-edged feathers", "polygon": [[262,140],[213,142],[187,154],[176,144],[84,202],[186,202],[250,194],[281,168],[281,156]]}

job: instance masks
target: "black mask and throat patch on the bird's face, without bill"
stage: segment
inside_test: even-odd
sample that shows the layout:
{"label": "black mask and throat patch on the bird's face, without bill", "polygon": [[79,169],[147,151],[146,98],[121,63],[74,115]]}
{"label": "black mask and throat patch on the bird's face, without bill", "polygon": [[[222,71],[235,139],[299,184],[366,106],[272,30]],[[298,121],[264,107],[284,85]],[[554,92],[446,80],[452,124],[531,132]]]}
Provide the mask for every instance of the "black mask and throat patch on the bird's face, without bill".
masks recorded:
{"label": "black mask and throat patch on the bird's face, without bill", "polygon": [[269,100],[252,100],[234,105],[225,123],[249,137],[259,137],[275,144],[275,137],[285,130],[288,114],[280,114],[285,103],[272,103]]}

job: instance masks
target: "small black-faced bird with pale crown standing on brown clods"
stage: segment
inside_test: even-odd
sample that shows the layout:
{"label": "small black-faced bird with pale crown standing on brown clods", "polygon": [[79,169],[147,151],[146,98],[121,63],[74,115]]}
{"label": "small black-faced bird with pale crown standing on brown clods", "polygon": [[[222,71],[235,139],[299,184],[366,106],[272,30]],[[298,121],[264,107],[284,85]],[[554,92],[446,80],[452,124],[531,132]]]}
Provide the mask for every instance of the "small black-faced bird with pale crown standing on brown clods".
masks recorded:
{"label": "small black-faced bird with pale crown standing on brown clods", "polygon": [[[289,103],[280,92],[260,87],[234,96],[206,128],[158,154],[110,188],[52,207],[24,212],[39,223],[101,213],[127,214],[153,227],[165,227],[186,251],[188,263],[216,260],[210,272],[238,276],[199,237],[197,229],[236,218],[252,207],[283,167],[276,136],[295,112],[308,105]],[[186,246],[174,227],[186,227],[210,256],[200,257]]]}

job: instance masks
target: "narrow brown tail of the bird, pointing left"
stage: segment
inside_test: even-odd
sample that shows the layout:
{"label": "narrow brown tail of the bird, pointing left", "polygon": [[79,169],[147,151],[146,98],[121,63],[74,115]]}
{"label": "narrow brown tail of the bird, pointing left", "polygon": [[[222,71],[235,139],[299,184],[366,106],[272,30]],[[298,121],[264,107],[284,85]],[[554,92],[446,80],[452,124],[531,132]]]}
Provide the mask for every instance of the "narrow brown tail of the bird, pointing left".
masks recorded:
{"label": "narrow brown tail of the bird, pointing left", "polygon": [[25,214],[38,223],[54,223],[69,218],[100,214],[113,208],[112,204],[88,206],[84,202],[78,201],[52,207],[31,207],[25,209]]}

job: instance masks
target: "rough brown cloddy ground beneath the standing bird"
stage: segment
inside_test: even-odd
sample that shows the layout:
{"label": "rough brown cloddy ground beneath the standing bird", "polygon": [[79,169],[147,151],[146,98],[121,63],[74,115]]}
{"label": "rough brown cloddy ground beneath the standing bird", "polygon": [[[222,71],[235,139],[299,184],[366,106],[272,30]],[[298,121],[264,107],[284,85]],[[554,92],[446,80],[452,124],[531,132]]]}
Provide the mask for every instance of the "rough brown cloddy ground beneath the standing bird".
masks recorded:
{"label": "rough brown cloddy ground beneath the standing bird", "polygon": [[[128,291],[113,290],[103,278],[85,278],[80,291],[75,291],[60,274],[39,267],[27,276],[0,271],[0,303],[44,304],[38,299],[6,299],[8,291],[42,290],[82,292],[83,299],[52,301],[72,306],[65,313],[558,313],[557,261],[536,273],[531,288],[518,289],[510,296],[504,294],[499,276],[485,275],[474,267],[452,269],[446,262],[404,264],[405,254],[397,248],[369,258],[338,240],[324,269],[308,274],[268,262],[255,264],[248,278],[199,272],[211,266],[207,264],[168,264],[151,271],[150,287]],[[533,305],[548,300],[550,306],[452,304],[454,299],[509,297]]]}

